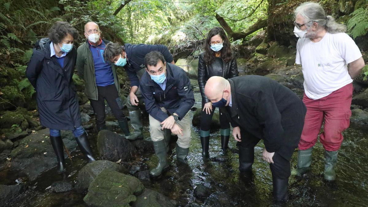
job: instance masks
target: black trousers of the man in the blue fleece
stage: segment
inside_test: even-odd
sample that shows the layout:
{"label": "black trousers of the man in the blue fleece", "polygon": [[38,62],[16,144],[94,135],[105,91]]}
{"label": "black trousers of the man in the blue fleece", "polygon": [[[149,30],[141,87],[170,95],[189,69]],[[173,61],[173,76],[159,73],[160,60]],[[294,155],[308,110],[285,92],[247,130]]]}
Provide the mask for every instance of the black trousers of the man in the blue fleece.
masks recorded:
{"label": "black trousers of the man in the blue fleece", "polygon": [[97,86],[98,100],[89,100],[91,106],[96,115],[96,121],[98,126],[105,124],[106,113],[105,113],[105,100],[109,104],[114,116],[118,121],[123,121],[125,119],[125,114],[123,112],[123,102],[121,101],[118,92],[116,90],[115,84],[108,86]]}

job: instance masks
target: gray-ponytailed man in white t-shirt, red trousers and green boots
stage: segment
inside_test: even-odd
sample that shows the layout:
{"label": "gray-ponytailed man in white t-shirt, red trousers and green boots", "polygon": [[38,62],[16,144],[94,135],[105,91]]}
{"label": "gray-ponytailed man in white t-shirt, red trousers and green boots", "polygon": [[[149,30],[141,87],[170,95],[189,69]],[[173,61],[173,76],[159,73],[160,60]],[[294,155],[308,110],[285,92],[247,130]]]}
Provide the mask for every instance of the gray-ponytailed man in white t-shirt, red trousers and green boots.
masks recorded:
{"label": "gray-ponytailed man in white t-shirt, red trousers and green boots", "polygon": [[302,3],[294,11],[297,43],[296,64],[302,65],[303,102],[307,106],[302,131],[297,173],[311,165],[312,148],[323,120],[320,141],[325,148],[325,180],[335,180],[337,154],[343,141],[342,131],[349,127],[353,78],[364,67],[362,54],[346,33],[346,27],[326,15],[318,3]]}

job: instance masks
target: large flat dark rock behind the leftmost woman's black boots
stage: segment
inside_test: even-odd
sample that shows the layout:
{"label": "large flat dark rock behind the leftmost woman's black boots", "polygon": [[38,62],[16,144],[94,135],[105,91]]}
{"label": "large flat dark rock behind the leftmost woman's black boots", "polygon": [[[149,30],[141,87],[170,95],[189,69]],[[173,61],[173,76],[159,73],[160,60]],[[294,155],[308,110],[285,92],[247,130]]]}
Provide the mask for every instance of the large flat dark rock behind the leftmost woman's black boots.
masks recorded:
{"label": "large flat dark rock behind the leftmost woman's black boots", "polygon": [[[77,142],[72,132],[62,130],[61,137],[69,152],[74,151]],[[10,154],[11,171],[21,171],[32,181],[42,172],[56,167],[57,161],[50,143],[49,129],[37,131],[18,141],[19,145]],[[64,155],[67,157],[66,153]]]}

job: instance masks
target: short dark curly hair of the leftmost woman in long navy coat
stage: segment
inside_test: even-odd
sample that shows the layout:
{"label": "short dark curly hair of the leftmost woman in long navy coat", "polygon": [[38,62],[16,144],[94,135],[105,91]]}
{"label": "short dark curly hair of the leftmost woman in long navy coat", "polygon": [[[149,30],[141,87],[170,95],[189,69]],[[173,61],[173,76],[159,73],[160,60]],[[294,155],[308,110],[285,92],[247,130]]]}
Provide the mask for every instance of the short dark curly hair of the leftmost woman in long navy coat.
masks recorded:
{"label": "short dark curly hair of the leftmost woman in long navy coat", "polygon": [[68,22],[57,21],[49,30],[49,38],[53,43],[60,43],[65,36],[70,34],[75,40],[78,39],[78,31]]}

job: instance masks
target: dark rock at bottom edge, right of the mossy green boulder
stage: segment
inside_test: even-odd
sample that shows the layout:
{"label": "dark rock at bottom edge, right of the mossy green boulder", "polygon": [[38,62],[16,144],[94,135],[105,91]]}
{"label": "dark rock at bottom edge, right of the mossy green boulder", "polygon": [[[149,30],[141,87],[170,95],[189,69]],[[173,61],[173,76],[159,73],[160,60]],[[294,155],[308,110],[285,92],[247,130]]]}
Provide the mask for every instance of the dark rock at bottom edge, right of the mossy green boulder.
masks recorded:
{"label": "dark rock at bottom edge, right of the mossy green boulder", "polygon": [[169,197],[156,192],[151,189],[144,189],[143,193],[137,196],[137,200],[134,201],[131,206],[141,207],[141,206],[161,206],[161,207],[171,207],[177,206],[175,200],[169,199]]}

